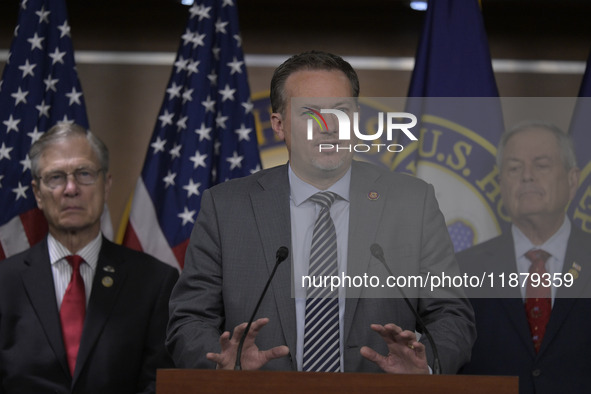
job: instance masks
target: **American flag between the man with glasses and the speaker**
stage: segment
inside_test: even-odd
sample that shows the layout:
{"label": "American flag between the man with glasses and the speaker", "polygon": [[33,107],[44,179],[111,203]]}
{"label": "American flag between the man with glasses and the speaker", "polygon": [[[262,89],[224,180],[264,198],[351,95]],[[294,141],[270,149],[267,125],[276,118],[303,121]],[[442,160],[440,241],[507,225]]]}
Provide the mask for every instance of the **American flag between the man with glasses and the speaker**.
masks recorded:
{"label": "American flag between the man with glasses and the speaker", "polygon": [[234,1],[189,10],[123,239],[177,268],[202,192],[261,166]]}

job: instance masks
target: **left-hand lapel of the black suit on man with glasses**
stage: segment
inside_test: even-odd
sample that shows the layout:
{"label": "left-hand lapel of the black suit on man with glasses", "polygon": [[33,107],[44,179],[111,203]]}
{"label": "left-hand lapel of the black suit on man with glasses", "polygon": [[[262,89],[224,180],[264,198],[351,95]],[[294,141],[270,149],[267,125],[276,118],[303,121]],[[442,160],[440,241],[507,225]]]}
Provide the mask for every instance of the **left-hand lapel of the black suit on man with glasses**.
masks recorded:
{"label": "left-hand lapel of the black suit on man with glasses", "polygon": [[51,272],[51,264],[49,263],[47,240],[34,246],[24,262],[28,266],[28,269],[23,271],[23,284],[31,305],[39,318],[39,322],[47,336],[47,341],[53,349],[64,373],[70,376],[62,338],[53,274]]}

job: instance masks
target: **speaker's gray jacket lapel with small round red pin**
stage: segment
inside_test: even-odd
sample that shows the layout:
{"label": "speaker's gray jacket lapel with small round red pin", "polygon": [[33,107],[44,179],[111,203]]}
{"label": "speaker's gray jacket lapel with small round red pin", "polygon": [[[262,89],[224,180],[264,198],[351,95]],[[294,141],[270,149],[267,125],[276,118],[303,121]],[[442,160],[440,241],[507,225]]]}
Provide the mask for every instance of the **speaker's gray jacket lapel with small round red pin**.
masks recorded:
{"label": "speaker's gray jacket lapel with small round red pin", "polygon": [[[379,198],[369,197],[375,192]],[[379,183],[379,173],[353,162],[349,194],[349,243],[347,275],[363,276],[368,272],[371,259],[370,246],[375,242],[376,232],[383,216],[387,188]],[[348,288],[345,306],[345,340],[351,332],[353,317],[362,288]]]}

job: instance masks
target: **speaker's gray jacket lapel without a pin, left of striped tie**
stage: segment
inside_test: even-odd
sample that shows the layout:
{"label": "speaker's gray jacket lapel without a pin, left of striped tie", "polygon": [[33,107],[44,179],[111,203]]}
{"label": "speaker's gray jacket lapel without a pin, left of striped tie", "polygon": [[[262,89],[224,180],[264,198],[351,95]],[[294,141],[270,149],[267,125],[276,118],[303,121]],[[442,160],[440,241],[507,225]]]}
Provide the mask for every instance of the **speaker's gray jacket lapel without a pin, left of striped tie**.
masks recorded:
{"label": "speaker's gray jacket lapel without a pin, left of striped tie", "polygon": [[[287,165],[268,172],[259,179],[260,190],[251,192],[250,198],[258,231],[263,240],[267,273],[275,267],[276,253],[280,246],[291,251],[291,216],[289,208],[289,178]],[[291,252],[286,261],[281,263],[270,286],[277,304],[277,313],[283,329],[285,343],[292,356],[293,368],[296,368],[296,318],[295,301],[292,297],[292,262]],[[262,291],[262,290],[261,290]],[[267,294],[267,297],[271,296]],[[272,317],[271,317],[272,318]]]}

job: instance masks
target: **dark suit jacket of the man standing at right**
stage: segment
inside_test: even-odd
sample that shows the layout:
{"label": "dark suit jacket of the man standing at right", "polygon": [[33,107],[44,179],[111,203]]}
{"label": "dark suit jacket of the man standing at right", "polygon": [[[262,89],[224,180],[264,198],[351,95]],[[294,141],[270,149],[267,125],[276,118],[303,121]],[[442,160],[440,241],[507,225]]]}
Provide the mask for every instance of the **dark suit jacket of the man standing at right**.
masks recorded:
{"label": "dark suit jacket of the man standing at right", "polygon": [[[463,272],[516,272],[510,233],[457,257]],[[519,376],[521,394],[591,393],[591,236],[573,226],[563,273],[575,266],[579,268],[574,285],[557,290],[539,353],[518,288],[512,290],[512,298],[471,298],[477,339],[461,373]]]}

